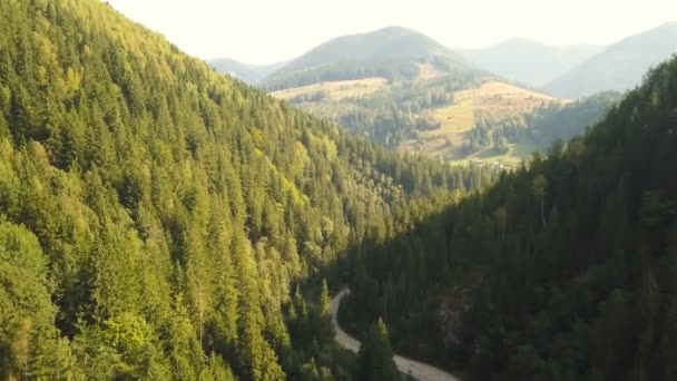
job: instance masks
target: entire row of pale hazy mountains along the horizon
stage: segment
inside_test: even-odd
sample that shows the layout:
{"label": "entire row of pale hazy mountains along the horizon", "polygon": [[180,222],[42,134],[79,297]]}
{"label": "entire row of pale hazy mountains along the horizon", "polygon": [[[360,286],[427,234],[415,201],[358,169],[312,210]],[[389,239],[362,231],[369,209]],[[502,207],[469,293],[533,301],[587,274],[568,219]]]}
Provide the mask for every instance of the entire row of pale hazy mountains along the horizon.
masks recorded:
{"label": "entire row of pale hazy mountains along the horizon", "polygon": [[267,88],[281,89],[394,74],[411,79],[415,70],[408,60],[439,57],[449,68],[472,68],[548,95],[578,98],[637,86],[648,68],[677,52],[675,41],[677,22],[668,22],[606,47],[551,46],[513,38],[479,49],[450,49],[416,31],[387,27],[337,37],[288,62],[249,66],[217,59],[210,63],[249,84],[263,86],[265,80]]}

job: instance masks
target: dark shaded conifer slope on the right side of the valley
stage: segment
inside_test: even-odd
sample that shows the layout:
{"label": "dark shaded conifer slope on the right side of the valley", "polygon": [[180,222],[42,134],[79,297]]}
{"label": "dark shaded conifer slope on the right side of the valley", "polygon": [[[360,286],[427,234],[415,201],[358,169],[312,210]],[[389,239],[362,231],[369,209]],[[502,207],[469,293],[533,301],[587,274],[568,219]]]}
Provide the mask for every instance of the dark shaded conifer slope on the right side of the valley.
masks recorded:
{"label": "dark shaded conifer slope on the right side of the valley", "polygon": [[473,380],[675,380],[676,107],[673,59],[583,137],[353,254],[346,324],[383,316]]}

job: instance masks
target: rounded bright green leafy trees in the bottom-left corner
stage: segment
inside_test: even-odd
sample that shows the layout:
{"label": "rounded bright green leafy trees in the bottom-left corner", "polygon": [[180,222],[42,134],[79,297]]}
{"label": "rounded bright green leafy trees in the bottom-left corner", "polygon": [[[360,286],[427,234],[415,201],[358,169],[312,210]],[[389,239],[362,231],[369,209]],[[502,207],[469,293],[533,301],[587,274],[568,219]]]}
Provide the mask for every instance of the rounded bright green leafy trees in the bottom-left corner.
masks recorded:
{"label": "rounded bright green leafy trees in the bottom-left corner", "polygon": [[47,258],[33,234],[0,219],[0,375],[68,374],[69,353],[52,325]]}

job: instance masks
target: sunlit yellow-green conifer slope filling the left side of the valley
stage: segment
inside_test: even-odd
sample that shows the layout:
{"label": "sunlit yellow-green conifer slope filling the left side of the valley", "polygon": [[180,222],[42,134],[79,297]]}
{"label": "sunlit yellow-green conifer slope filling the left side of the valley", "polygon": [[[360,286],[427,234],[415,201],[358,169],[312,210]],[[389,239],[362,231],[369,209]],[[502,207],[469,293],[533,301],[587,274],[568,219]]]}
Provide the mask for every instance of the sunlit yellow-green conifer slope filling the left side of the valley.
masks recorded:
{"label": "sunlit yellow-green conifer slope filling the left side of the valley", "polygon": [[3,0],[0,19],[3,379],[343,379],[316,279],[485,180],[351,137],[97,0]]}

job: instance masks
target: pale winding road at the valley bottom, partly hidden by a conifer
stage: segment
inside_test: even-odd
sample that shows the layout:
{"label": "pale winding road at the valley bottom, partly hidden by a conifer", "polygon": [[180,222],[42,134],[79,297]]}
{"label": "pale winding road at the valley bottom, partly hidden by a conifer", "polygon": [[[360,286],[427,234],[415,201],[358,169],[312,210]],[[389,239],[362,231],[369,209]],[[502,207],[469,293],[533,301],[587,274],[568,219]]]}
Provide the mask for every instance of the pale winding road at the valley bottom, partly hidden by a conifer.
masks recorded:
{"label": "pale winding road at the valley bottom, partly hidden by a conifer", "polygon": [[[343,289],[338,294],[336,294],[336,296],[334,296],[334,299],[332,299],[332,320],[334,322],[334,329],[336,330],[336,341],[338,344],[357,353],[360,350],[360,342],[345,333],[345,331],[343,331],[338,325],[338,320],[336,319],[341,300],[347,294],[350,294],[350,290]],[[396,354],[394,360],[400,372],[411,374],[420,381],[460,381],[458,378],[444,372],[443,370],[426,365],[422,362],[406,359]]]}

